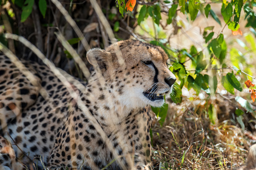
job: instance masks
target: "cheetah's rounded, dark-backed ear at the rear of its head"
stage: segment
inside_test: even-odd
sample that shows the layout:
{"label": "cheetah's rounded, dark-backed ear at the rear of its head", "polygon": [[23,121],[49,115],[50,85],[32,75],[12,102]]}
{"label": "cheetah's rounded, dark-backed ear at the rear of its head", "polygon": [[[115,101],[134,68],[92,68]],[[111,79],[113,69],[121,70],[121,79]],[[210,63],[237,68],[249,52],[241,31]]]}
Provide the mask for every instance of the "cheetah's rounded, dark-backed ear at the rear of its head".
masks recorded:
{"label": "cheetah's rounded, dark-backed ear at the rear of its head", "polygon": [[111,53],[100,48],[91,49],[87,52],[87,60],[96,70],[106,71],[108,58]]}

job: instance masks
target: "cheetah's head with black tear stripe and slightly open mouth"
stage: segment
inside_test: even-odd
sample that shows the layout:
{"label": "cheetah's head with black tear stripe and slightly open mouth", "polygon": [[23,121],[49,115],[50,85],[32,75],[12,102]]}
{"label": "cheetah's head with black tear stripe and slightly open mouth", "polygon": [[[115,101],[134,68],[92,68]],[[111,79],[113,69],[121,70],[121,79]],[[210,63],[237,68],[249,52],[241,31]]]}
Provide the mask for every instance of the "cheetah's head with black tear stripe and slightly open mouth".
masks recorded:
{"label": "cheetah's head with black tear stripe and slightly open mouth", "polygon": [[107,90],[128,107],[163,105],[164,95],[169,97],[176,81],[164,50],[140,41],[120,41],[106,51],[92,49],[87,58],[103,75]]}

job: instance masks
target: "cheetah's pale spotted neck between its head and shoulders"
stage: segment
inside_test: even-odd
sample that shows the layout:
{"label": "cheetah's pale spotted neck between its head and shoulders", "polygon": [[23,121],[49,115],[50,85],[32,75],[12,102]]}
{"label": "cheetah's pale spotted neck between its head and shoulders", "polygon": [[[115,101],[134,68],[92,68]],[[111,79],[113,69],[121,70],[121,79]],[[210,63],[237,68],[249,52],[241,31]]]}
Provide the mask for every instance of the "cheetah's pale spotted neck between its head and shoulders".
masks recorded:
{"label": "cheetah's pale spotted neck between its head and shoulders", "polygon": [[119,89],[113,84],[102,83],[91,79],[83,93],[84,104],[93,112],[97,120],[108,124],[119,124],[127,116],[138,114],[144,107],[128,107],[119,102]]}

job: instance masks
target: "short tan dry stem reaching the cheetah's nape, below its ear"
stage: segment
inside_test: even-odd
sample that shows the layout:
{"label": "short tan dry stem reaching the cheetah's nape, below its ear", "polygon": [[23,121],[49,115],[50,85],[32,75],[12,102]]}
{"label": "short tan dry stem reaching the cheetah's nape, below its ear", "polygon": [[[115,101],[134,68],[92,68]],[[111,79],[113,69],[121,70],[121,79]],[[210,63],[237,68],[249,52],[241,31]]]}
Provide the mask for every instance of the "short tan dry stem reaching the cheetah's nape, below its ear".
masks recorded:
{"label": "short tan dry stem reaching the cheetah's nape, below its ear", "polygon": [[62,36],[60,32],[55,33],[57,36],[57,39],[61,42],[63,47],[72,54],[72,57],[74,61],[78,64],[79,68],[82,70],[82,73],[84,77],[86,77],[87,80],[90,78],[90,72],[89,69],[86,67],[86,64],[81,60],[77,52],[71,47],[71,45],[65,40],[65,38]]}

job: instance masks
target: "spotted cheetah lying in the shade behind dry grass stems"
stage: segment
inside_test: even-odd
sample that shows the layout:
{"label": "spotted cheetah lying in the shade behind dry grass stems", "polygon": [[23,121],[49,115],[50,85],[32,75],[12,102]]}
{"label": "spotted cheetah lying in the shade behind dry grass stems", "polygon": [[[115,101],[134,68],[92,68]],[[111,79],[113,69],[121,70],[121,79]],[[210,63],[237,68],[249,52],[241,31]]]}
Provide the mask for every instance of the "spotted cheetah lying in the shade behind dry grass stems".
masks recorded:
{"label": "spotted cheetah lying in the shade behind dry grass stems", "polygon": [[32,85],[0,56],[0,135],[13,144],[10,159],[14,153],[19,158],[2,164],[11,169],[31,161],[48,169],[153,169],[148,106],[163,105],[172,92],[176,78],[168,56],[158,46],[125,40],[106,50],[91,49],[87,59],[94,67],[88,83],[74,79],[67,88],[47,66],[22,60],[38,82]]}

